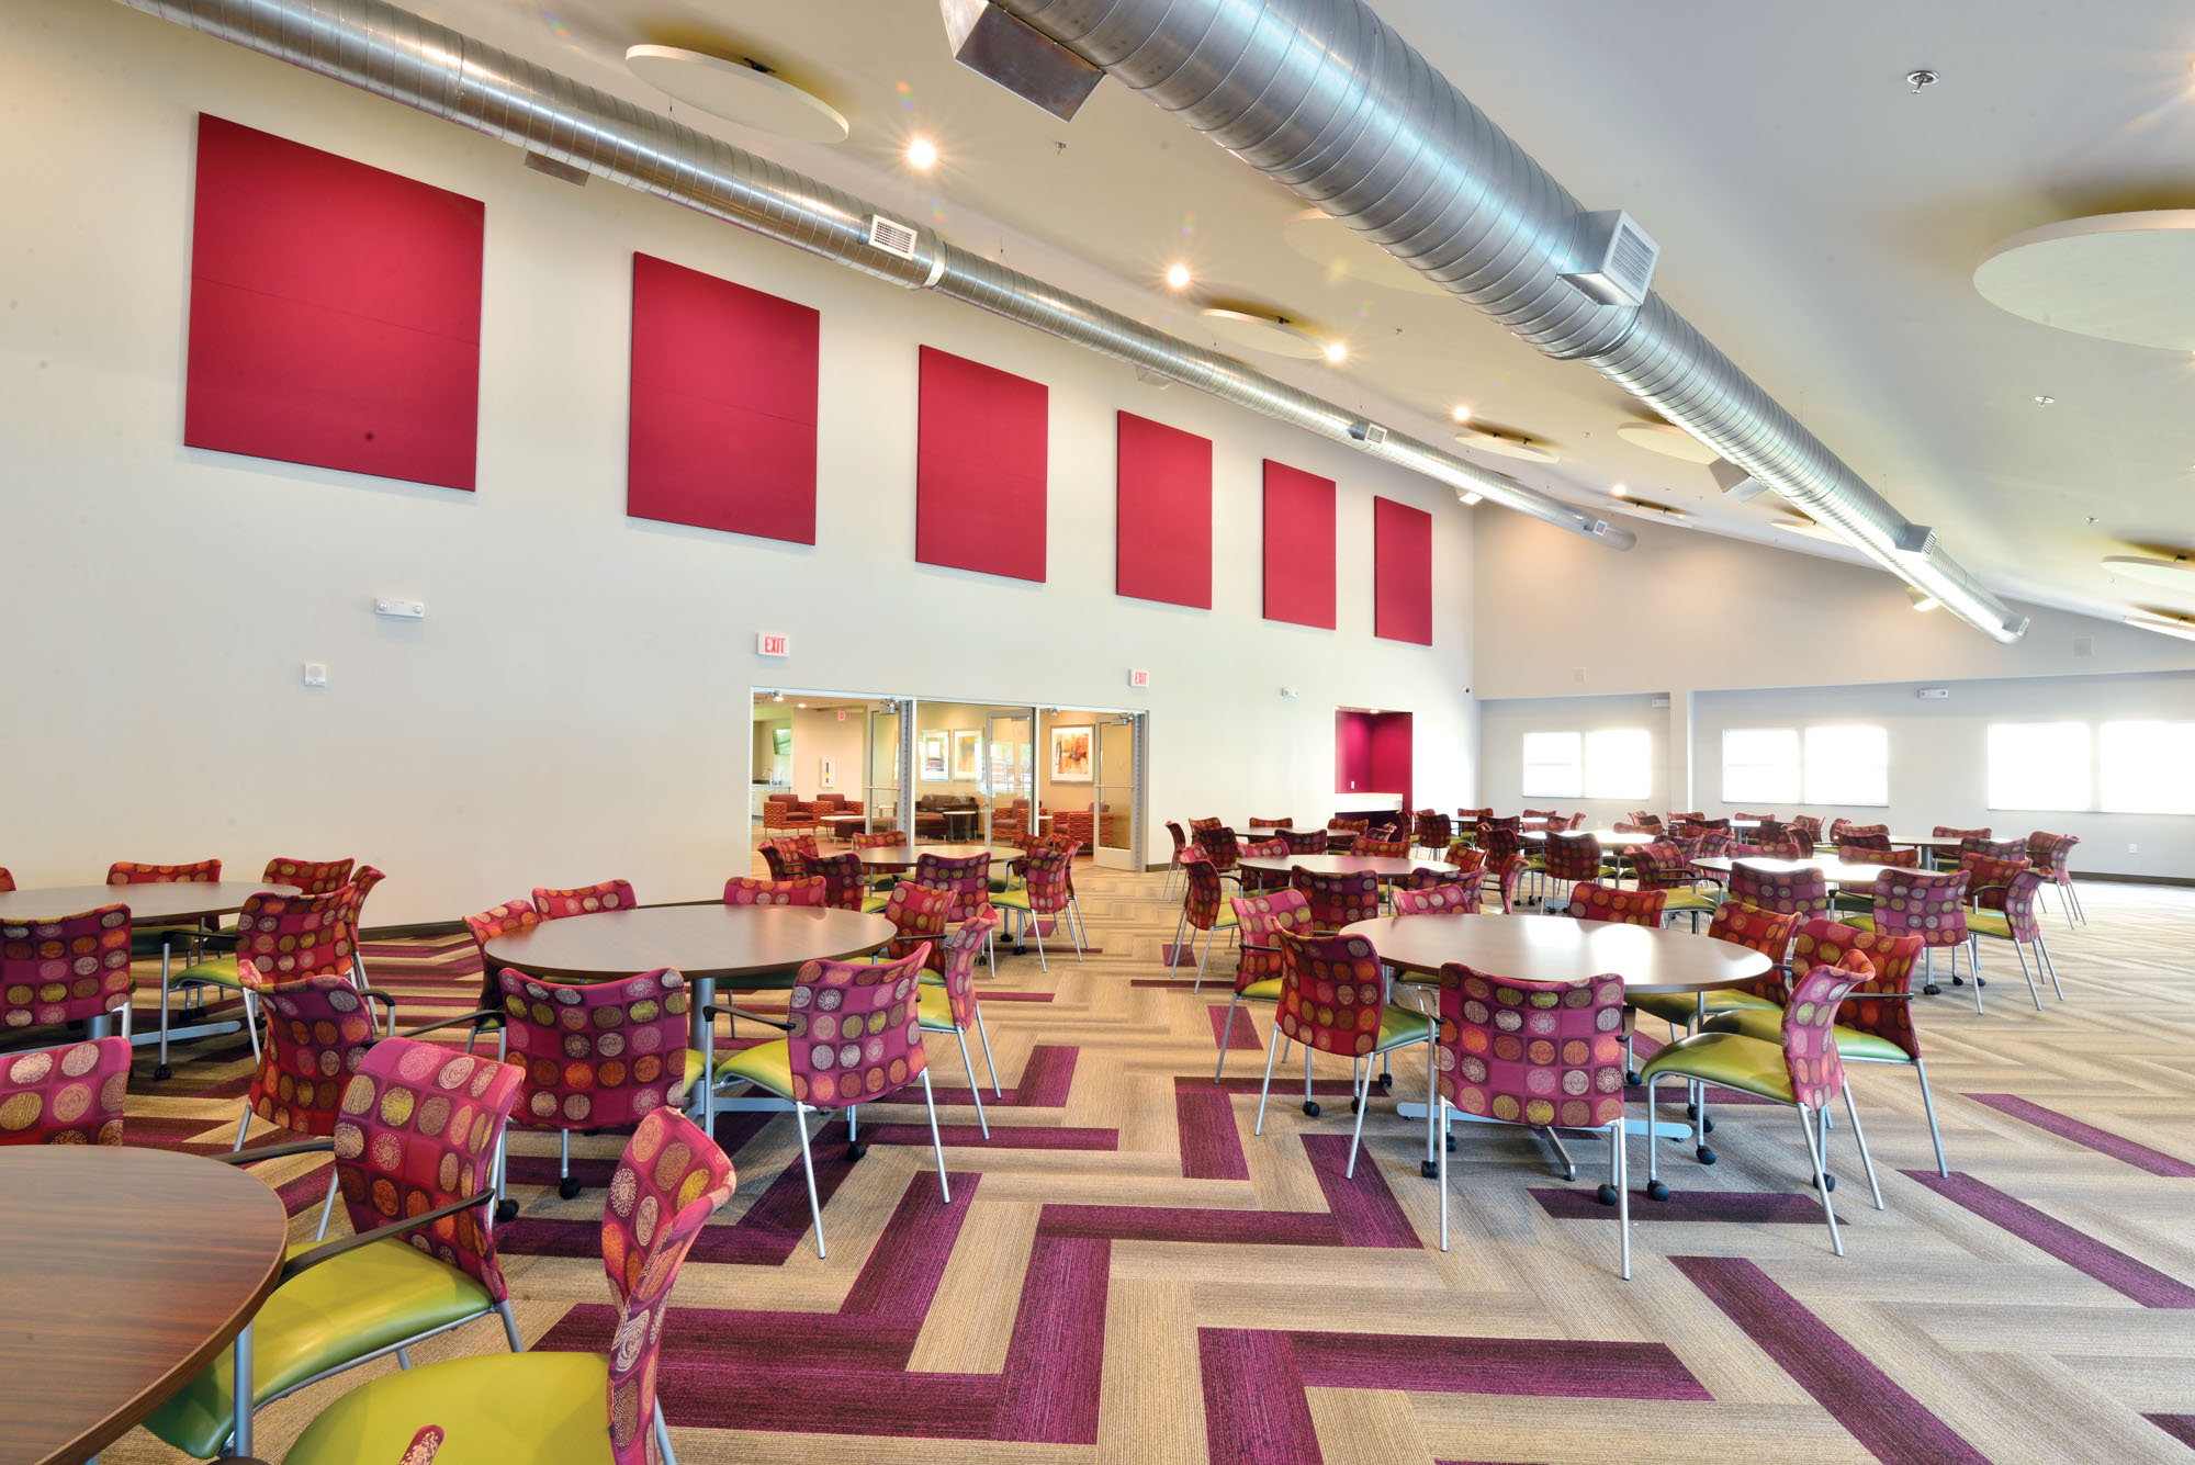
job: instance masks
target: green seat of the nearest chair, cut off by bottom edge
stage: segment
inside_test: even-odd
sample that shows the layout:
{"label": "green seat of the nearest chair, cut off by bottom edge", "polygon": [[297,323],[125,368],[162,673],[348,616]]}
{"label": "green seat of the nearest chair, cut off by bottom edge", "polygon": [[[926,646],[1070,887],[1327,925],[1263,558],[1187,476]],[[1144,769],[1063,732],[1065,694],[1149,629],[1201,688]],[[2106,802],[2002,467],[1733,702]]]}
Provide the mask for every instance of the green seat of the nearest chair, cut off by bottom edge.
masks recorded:
{"label": "green seat of the nearest chair, cut off by bottom edge", "polygon": [[290,1465],[397,1465],[441,1430],[435,1465],[610,1465],[610,1360],[601,1353],[479,1353],[389,1373],[329,1404]]}

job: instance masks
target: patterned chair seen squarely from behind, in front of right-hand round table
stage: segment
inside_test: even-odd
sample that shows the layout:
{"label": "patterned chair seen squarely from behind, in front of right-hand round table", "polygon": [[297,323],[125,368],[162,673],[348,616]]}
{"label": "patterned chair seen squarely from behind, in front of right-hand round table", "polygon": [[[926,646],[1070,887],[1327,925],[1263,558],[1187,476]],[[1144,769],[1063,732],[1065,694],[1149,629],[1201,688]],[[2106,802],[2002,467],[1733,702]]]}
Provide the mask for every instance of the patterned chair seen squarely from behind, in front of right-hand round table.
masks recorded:
{"label": "patterned chair seen squarely from behind, in front of right-hand round table", "polygon": [[1438,1075],[1429,1075],[1427,1143],[1440,1182],[1440,1250],[1449,1250],[1449,1121],[1523,1125],[1554,1145],[1574,1176],[1556,1127],[1600,1129],[1609,1140],[1609,1180],[1600,1197],[1616,1202],[1622,1276],[1631,1279],[1631,1184],[1624,1156],[1622,1070],[1624,978],[1528,983],[1440,969]]}

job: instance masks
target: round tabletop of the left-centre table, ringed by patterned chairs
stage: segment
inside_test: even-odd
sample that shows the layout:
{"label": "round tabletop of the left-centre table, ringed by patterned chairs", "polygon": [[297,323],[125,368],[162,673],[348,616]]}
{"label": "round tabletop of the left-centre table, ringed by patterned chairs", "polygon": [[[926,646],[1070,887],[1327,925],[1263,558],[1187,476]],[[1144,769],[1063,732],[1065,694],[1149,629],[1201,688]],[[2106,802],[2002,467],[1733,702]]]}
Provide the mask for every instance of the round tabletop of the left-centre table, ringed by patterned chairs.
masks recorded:
{"label": "round tabletop of the left-centre table, ringed by patterned chairs", "polygon": [[893,936],[880,915],[828,906],[639,906],[542,921],[487,943],[487,961],[536,976],[608,980],[672,967],[687,980],[854,961]]}

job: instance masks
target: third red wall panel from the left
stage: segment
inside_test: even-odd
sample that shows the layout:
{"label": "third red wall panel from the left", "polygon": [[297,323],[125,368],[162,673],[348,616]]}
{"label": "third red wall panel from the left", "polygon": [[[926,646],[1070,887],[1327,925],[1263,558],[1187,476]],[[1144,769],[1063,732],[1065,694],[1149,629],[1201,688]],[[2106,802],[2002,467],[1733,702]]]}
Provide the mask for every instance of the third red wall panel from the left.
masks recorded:
{"label": "third red wall panel from the left", "polygon": [[922,347],[915,559],[1045,579],[1047,404],[1043,382]]}

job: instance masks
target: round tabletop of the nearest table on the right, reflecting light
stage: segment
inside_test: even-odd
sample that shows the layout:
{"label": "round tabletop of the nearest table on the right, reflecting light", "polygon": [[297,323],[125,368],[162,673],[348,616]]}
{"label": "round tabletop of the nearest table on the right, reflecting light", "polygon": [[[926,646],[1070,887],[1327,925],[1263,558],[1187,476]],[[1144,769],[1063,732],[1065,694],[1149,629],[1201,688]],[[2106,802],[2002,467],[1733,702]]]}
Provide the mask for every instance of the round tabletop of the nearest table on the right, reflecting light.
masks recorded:
{"label": "round tabletop of the nearest table on the right, reflecting light", "polygon": [[1629,993],[1699,993],[1743,987],[1769,969],[1767,956],[1734,941],[1572,917],[1378,917],[1341,930],[1367,939],[1389,967],[1427,976],[1460,961],[1488,976],[1534,983],[1574,983],[1613,972]]}

